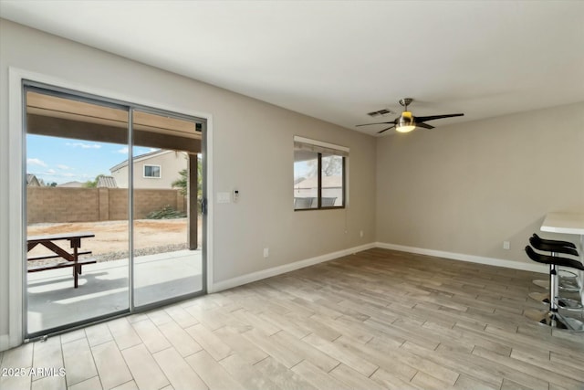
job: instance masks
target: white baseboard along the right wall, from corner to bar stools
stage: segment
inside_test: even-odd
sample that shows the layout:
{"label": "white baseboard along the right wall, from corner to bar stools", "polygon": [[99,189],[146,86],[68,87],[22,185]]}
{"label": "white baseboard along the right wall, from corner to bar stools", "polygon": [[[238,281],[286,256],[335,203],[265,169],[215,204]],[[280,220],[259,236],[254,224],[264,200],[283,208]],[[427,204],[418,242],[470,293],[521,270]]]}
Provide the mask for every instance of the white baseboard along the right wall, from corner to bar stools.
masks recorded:
{"label": "white baseboard along the right wall, from corner to bar stools", "polygon": [[401,252],[417,253],[419,255],[435,256],[437,258],[450,258],[453,260],[468,261],[471,263],[485,264],[487,266],[505,267],[507,269],[521,269],[525,271],[548,273],[549,269],[543,264],[537,263],[522,263],[519,261],[504,260],[501,258],[484,258],[481,256],[464,255],[462,253],[445,252],[442,250],[406,247],[397,244],[387,244],[383,242],[376,242],[376,248],[400,250]]}

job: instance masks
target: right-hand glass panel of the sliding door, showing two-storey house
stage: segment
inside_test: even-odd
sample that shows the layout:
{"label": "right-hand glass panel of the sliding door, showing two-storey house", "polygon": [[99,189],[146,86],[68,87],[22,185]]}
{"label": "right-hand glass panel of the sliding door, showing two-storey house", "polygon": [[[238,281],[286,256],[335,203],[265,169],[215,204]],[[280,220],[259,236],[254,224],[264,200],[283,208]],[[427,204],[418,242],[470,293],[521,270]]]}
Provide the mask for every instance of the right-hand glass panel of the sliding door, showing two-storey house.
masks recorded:
{"label": "right-hand glass panel of the sliding door, showing two-storey house", "polygon": [[[136,306],[203,290],[196,122],[132,111]],[[144,150],[147,148],[148,150]]]}

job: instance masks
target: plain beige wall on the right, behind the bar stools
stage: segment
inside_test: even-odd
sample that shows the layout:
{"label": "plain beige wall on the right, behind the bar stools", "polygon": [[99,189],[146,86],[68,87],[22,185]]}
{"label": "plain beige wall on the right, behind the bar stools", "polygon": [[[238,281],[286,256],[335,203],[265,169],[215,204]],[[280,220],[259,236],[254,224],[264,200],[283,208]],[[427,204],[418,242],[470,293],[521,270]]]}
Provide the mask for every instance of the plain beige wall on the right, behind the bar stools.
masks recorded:
{"label": "plain beige wall on the right, behind the bar stools", "polygon": [[584,212],[584,103],[381,138],[376,210],[382,243],[529,262],[547,212]]}

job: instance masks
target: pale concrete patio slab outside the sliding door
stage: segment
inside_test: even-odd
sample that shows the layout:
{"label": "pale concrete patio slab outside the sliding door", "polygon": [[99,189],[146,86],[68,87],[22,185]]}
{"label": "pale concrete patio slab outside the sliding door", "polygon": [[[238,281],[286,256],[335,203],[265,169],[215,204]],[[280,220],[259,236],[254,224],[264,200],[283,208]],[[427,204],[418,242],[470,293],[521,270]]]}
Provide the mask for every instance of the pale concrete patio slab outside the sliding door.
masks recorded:
{"label": "pale concrete patio slab outside the sliding door", "polygon": [[[84,321],[129,307],[127,258],[83,266],[78,289],[72,268],[28,273],[28,333]],[[134,258],[136,307],[203,288],[201,250]]]}

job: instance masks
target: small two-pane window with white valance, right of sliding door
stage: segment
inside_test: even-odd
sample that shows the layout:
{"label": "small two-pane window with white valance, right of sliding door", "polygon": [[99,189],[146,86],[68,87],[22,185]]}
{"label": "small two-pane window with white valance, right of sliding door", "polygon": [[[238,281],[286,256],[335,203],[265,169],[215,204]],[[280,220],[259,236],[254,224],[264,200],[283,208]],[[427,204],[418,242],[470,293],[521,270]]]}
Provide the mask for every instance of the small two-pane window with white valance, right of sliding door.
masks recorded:
{"label": "small two-pane window with white valance, right of sliding door", "polygon": [[294,209],[345,206],[345,160],[349,149],[294,137]]}

